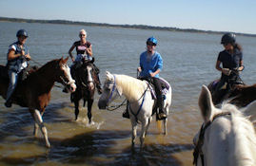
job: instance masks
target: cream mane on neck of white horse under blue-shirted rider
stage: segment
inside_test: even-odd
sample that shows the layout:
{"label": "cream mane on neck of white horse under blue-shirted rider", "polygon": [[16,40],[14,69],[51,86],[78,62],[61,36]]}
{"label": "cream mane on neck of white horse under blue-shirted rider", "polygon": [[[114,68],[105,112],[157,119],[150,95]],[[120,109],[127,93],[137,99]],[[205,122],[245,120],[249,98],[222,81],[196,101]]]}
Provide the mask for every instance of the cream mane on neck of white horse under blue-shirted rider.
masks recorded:
{"label": "cream mane on neck of white horse under blue-shirted rider", "polygon": [[115,75],[116,83],[122,86],[128,97],[137,98],[145,91],[147,83],[127,75]]}

